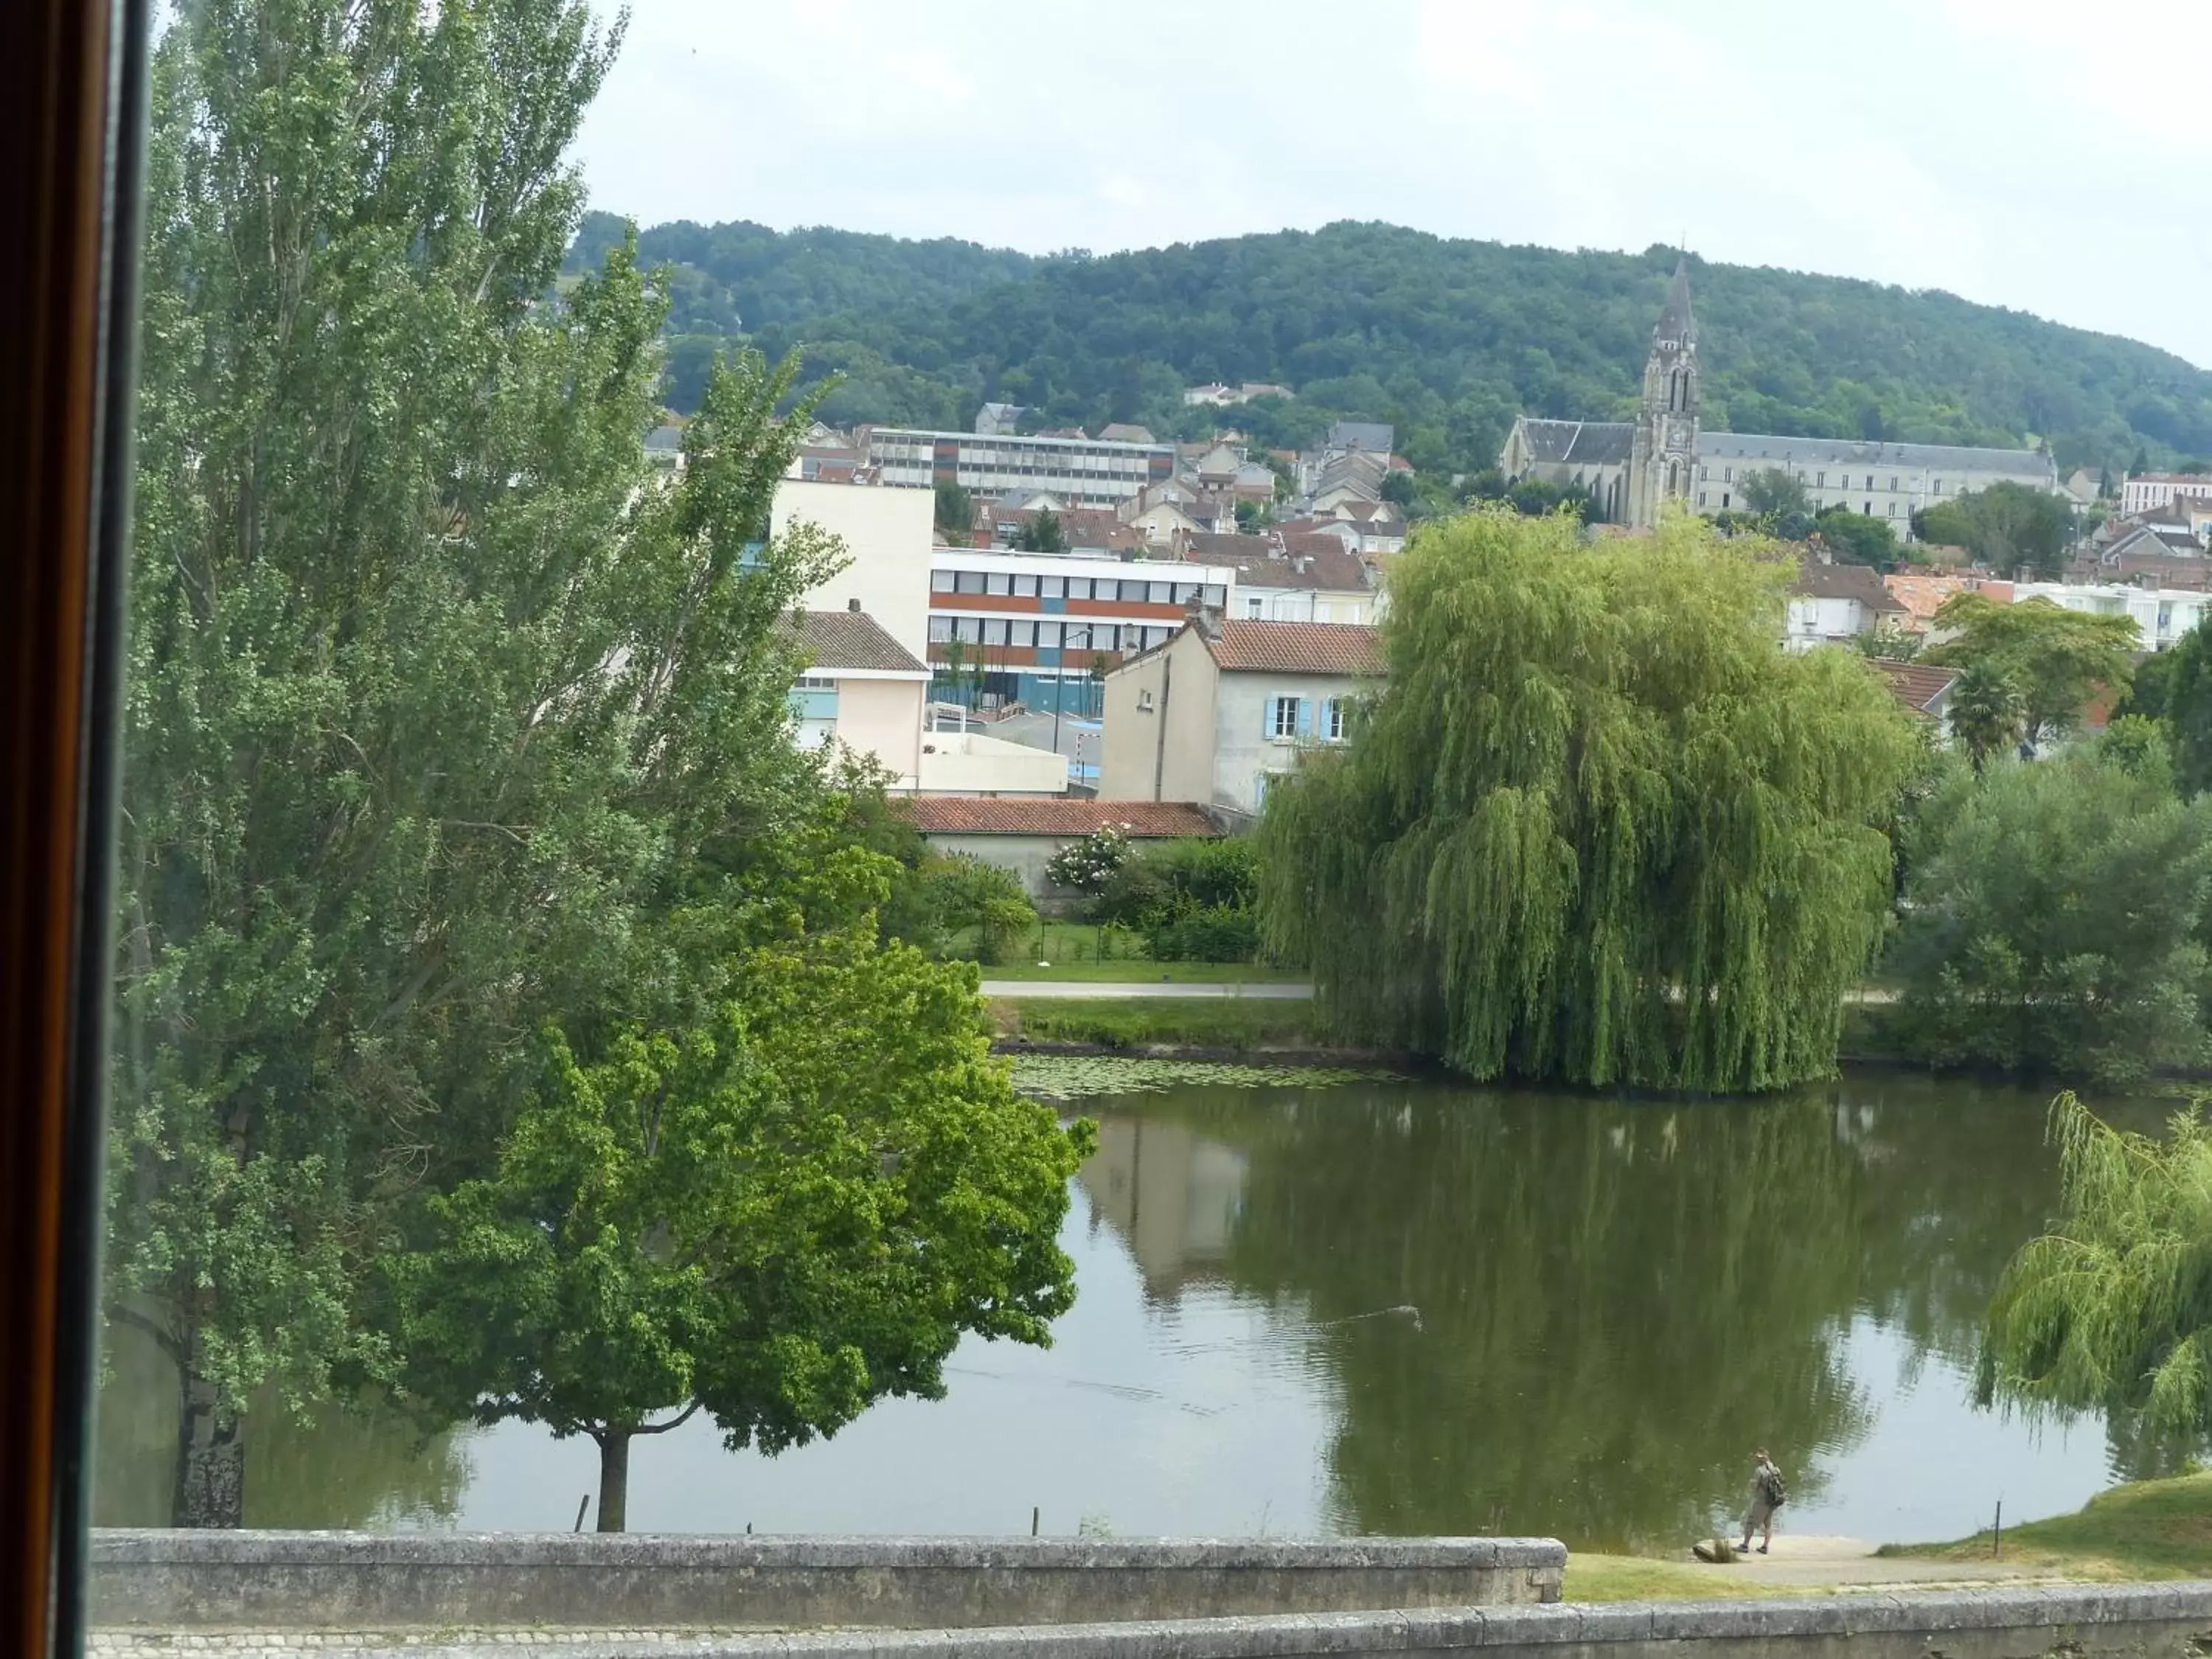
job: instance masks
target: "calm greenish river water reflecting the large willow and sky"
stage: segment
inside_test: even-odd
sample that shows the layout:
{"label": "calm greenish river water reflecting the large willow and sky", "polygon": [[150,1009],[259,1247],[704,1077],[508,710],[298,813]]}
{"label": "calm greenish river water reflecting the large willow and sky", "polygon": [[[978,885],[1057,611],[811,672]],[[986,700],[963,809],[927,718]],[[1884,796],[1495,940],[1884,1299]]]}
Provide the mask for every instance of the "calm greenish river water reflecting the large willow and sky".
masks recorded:
{"label": "calm greenish river water reflecting the large willow and sky", "polygon": [[[2154,1453],[1971,1402],[1975,1321],[2051,1210],[2044,1093],[1856,1075],[1652,1104],[1433,1082],[1084,1102],[1099,1152],[1048,1352],[732,1455],[639,1440],[635,1531],[1551,1533],[1679,1544],[1752,1447],[1796,1531],[1927,1540],[2077,1506]],[[2137,1126],[2157,1110],[2130,1113]],[[115,1356],[104,1524],[166,1515],[168,1378]],[[263,1418],[254,1526],[568,1528],[588,1440]]]}

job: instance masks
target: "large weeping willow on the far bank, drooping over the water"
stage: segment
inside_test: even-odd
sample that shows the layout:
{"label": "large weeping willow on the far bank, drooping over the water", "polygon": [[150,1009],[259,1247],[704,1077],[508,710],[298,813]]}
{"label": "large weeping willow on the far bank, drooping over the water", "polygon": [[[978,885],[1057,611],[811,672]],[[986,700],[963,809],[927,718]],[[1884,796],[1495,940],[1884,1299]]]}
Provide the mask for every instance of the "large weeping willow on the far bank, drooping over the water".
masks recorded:
{"label": "large weeping willow on the far bank, drooping over the water", "polygon": [[1856,653],[1781,653],[1787,577],[1690,518],[1420,538],[1380,692],[1259,830],[1267,942],[1329,1024],[1473,1077],[1829,1075],[1918,739]]}

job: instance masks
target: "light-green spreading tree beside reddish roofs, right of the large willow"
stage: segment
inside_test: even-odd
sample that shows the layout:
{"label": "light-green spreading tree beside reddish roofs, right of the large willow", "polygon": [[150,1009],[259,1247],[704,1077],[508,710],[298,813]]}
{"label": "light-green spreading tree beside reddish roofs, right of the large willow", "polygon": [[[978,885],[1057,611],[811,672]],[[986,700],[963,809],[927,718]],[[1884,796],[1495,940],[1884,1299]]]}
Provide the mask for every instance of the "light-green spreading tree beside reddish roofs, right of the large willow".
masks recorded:
{"label": "light-green spreading tree beside reddish roofs, right of the large willow", "polygon": [[1929,650],[1929,661],[1989,668],[2020,690],[2031,752],[2079,726],[2099,692],[2126,695],[2135,672],[2137,630],[2128,617],[2066,611],[2051,599],[1997,604],[1966,591],[1944,599],[1933,622],[1955,637]]}

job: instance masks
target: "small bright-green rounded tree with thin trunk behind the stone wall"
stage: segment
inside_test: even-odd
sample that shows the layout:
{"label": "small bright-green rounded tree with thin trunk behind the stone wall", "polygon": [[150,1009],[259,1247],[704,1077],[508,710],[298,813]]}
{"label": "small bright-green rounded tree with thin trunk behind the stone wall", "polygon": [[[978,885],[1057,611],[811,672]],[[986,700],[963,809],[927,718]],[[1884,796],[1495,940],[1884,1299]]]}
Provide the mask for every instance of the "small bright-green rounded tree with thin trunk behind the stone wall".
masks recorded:
{"label": "small bright-green rounded tree with thin trunk behind the stone wall", "polygon": [[989,1057],[973,969],[872,925],[765,947],[699,1024],[597,1064],[551,1040],[498,1168],[387,1267],[403,1383],[438,1416],[591,1436],[619,1533],[641,1433],[703,1409],[776,1453],[942,1398],[962,1334],[1048,1345],[1088,1144]]}

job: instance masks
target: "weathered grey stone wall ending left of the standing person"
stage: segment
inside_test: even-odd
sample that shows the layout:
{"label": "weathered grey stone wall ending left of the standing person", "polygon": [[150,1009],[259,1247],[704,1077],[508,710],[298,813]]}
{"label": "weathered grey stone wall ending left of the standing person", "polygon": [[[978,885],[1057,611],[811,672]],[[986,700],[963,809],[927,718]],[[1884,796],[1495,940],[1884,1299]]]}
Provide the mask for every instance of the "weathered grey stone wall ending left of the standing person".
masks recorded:
{"label": "weathered grey stone wall ending left of the standing person", "polygon": [[95,1531],[91,1599],[106,1630],[945,1630],[1542,1604],[1564,1566],[1520,1537]]}

